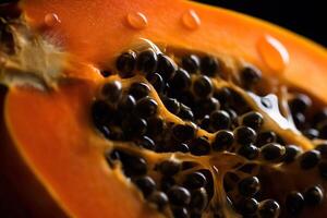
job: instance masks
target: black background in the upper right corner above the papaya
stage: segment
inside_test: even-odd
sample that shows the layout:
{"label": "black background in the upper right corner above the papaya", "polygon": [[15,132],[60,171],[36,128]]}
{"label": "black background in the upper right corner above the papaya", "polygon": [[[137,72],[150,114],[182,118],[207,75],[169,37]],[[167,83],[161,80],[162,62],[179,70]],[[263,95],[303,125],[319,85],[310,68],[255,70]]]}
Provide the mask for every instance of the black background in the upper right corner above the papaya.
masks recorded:
{"label": "black background in the upper right corner above the papaya", "polygon": [[327,7],[324,0],[197,1],[269,21],[327,47]]}

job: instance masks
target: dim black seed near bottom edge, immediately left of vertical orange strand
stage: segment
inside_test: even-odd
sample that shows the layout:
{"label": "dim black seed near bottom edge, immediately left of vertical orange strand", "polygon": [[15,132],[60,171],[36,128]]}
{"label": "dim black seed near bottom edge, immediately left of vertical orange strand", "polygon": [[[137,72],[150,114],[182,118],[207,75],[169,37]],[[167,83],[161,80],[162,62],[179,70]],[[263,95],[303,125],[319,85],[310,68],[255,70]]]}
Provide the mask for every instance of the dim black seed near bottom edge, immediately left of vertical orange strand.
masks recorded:
{"label": "dim black seed near bottom edge, immediately left of vertical orange strand", "polygon": [[193,211],[201,213],[205,209],[208,204],[208,195],[204,187],[193,190],[191,192],[190,208]]}

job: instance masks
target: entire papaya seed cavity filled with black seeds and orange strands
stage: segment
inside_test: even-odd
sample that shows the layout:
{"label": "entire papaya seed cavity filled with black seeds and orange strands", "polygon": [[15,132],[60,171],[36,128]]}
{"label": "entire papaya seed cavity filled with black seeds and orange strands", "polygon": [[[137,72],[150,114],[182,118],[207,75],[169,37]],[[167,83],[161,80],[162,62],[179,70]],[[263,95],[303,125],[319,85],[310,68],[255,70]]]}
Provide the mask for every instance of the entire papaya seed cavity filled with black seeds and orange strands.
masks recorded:
{"label": "entire papaya seed cavity filled with black seeds and orange strands", "polygon": [[153,44],[122,51],[104,76],[90,106],[116,142],[104,158],[168,217],[289,217],[325,202],[327,109],[307,93]]}

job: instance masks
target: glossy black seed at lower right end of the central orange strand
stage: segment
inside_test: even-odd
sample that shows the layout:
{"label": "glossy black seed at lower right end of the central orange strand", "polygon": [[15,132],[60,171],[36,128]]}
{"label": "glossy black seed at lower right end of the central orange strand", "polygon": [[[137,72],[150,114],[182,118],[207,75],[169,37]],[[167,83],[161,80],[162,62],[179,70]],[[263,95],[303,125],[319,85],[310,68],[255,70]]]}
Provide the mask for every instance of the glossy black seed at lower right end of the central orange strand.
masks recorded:
{"label": "glossy black seed at lower right end of the central orange strand", "polygon": [[234,134],[231,131],[220,130],[216,133],[213,142],[214,150],[223,150],[230,148],[234,142]]}

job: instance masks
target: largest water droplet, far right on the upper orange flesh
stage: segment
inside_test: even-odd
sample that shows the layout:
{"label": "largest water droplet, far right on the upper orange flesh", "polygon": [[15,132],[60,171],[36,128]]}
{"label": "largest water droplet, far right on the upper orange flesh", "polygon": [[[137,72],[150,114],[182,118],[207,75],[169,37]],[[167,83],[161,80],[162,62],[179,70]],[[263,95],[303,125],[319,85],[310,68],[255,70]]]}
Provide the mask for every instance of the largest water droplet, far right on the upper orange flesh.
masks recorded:
{"label": "largest water droplet, far right on the upper orange flesh", "polygon": [[290,57],[284,46],[271,36],[263,37],[257,49],[267,66],[274,71],[282,71],[289,63]]}

